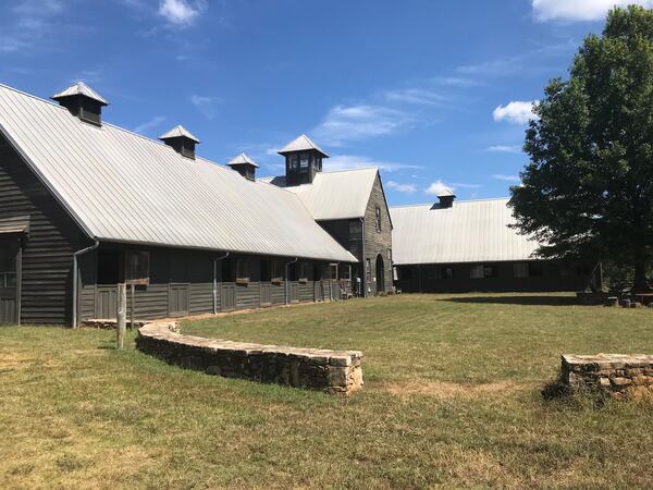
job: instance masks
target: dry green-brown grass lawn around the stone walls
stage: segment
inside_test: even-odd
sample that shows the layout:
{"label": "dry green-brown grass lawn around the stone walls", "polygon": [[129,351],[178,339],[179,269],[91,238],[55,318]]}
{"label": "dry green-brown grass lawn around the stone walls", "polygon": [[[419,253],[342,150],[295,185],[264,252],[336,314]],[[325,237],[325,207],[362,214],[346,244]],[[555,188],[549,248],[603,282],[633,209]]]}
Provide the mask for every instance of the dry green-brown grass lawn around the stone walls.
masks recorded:
{"label": "dry green-brown grass lawn around the stone walls", "polygon": [[653,310],[404,295],[189,321],[365,353],[352,397],[184,371],[107,331],[0,329],[0,488],[651,487],[653,407],[544,401],[560,353],[653,353]]}

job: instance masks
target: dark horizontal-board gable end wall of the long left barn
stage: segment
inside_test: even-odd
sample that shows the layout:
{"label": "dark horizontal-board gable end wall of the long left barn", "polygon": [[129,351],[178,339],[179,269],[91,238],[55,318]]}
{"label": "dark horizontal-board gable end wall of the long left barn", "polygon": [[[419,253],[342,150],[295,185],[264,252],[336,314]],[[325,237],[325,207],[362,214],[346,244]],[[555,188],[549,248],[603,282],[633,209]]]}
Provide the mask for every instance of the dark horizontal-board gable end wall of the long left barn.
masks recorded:
{"label": "dark horizontal-board gable end wall of the long left barn", "polygon": [[16,217],[29,218],[22,256],[21,321],[70,324],[73,254],[91,243],[0,135],[0,222]]}

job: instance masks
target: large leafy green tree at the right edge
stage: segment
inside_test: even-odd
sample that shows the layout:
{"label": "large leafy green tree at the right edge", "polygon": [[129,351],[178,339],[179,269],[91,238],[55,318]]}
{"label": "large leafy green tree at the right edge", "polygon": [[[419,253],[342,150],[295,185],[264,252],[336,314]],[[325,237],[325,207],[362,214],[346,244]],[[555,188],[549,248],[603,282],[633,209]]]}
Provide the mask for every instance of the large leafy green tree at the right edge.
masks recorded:
{"label": "large leafy green tree at the right edge", "polygon": [[510,206],[550,258],[609,257],[646,290],[653,245],[653,11],[614,9],[568,81],[552,79],[526,132]]}

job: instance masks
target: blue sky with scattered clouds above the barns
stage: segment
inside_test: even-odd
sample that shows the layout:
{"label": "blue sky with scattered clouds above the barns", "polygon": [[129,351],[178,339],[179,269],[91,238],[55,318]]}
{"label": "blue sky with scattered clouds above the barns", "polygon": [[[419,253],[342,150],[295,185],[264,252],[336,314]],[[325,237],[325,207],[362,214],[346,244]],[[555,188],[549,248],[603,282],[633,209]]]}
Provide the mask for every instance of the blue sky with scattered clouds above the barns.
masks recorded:
{"label": "blue sky with scattered clouds above the barns", "polygon": [[[527,161],[530,102],[621,0],[14,0],[0,83],[49,97],[84,81],[104,119],[261,175],[307,133],[325,169],[378,166],[391,205],[501,197]],[[632,1],[628,2],[632,3]],[[653,0],[640,0],[653,7]]]}

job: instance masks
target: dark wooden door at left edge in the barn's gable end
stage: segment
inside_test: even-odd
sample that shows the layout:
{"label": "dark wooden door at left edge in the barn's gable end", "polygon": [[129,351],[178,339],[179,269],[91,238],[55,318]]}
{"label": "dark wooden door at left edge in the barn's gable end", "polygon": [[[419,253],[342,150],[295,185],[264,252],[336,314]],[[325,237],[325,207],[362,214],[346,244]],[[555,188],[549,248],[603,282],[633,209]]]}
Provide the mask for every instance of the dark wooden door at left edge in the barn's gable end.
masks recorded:
{"label": "dark wooden door at left edge in the barn's gable end", "polygon": [[21,242],[19,237],[0,237],[0,324],[17,324],[19,269]]}

